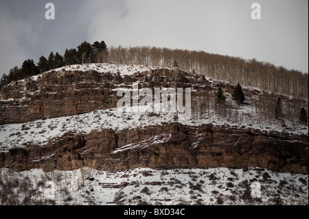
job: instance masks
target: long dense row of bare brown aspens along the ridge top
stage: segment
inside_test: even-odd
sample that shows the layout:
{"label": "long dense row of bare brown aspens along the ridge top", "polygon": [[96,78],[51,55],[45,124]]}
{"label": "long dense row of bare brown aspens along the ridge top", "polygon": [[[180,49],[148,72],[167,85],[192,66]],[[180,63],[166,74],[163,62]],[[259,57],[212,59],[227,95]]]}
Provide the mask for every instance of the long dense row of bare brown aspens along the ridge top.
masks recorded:
{"label": "long dense row of bare brown aspens along the ridge top", "polygon": [[205,51],[149,46],[108,49],[108,62],[114,64],[173,67],[175,60],[179,69],[184,71],[194,70],[210,78],[226,80],[233,84],[240,82],[244,86],[258,87],[262,91],[308,99],[308,73],[275,67],[269,62],[259,62],[255,58],[244,60]]}

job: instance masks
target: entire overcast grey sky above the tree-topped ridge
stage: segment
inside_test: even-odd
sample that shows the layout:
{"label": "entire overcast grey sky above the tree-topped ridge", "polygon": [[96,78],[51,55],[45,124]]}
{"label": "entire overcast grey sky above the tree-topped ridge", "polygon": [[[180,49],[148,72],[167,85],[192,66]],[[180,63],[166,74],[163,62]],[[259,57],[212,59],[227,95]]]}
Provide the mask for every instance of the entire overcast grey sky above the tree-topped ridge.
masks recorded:
{"label": "entire overcast grey sky above the tree-topped ridge", "polygon": [[[45,4],[55,19],[45,19]],[[262,19],[251,19],[251,4]],[[308,73],[308,0],[0,0],[0,76],[83,41],[256,58]]]}

